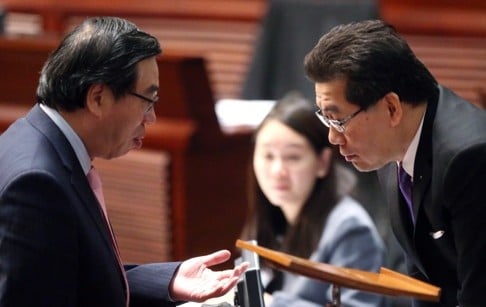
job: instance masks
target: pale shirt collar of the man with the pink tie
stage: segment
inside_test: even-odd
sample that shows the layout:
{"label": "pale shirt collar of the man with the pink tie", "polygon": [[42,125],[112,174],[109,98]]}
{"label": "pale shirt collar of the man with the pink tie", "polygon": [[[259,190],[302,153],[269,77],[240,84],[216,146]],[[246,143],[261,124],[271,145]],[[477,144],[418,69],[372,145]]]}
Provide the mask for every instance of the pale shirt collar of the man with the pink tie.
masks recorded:
{"label": "pale shirt collar of the man with the pink tie", "polygon": [[44,104],[40,104],[40,108],[44,111],[47,116],[56,124],[57,127],[61,130],[61,132],[66,136],[68,139],[69,144],[74,149],[74,153],[83,168],[84,174],[88,174],[89,169],[91,168],[91,158],[89,157],[88,150],[84,146],[83,141],[76,134],[73,128],[69,125],[69,123],[62,117],[62,115]]}

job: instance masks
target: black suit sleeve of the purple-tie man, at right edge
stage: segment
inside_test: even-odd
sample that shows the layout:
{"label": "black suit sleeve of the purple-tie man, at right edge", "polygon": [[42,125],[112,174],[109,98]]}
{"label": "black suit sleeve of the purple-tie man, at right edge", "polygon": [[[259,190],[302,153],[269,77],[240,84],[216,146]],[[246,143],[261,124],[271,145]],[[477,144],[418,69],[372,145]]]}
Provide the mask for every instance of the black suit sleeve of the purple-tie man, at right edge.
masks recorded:
{"label": "black suit sleeve of the purple-tie man, at right edge", "polygon": [[[484,133],[484,132],[483,132]],[[457,249],[461,306],[484,304],[486,285],[486,144],[455,157],[444,181]]]}

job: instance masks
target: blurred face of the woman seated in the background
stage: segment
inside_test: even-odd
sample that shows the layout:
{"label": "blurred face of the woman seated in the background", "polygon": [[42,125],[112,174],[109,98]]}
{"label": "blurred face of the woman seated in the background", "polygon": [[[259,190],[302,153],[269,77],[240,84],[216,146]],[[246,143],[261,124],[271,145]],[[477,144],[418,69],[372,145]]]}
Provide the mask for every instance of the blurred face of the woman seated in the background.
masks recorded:
{"label": "blurred face of the woman seated in the background", "polygon": [[253,153],[257,182],[289,222],[298,216],[316,179],[327,173],[323,157],[303,135],[277,120],[268,120],[257,133]]}

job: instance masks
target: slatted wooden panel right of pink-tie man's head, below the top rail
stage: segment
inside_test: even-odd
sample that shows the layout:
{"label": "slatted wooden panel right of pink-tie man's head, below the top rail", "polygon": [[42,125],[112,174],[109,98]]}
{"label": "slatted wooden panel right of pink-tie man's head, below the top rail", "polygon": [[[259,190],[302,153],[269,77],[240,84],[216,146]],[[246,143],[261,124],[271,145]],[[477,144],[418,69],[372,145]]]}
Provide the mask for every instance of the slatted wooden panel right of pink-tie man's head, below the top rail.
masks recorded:
{"label": "slatted wooden panel right of pink-tie man's head, below the top rail", "polygon": [[[69,19],[69,27],[81,22]],[[258,23],[241,20],[131,17],[157,37],[164,53],[202,57],[214,99],[238,98],[253,55]]]}

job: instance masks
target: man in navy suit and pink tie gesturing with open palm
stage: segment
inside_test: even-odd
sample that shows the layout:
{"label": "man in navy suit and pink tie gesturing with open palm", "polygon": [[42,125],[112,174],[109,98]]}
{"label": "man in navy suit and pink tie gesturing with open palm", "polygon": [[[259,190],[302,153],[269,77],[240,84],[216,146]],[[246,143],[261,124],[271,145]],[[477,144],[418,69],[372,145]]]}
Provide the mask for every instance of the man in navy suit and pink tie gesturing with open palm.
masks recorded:
{"label": "man in navy suit and pink tie gesturing with open palm", "polygon": [[[166,306],[233,288],[247,264],[218,251],[122,267],[94,158],[142,146],[155,122],[157,39],[120,18],[90,18],[45,63],[38,103],[0,136],[0,305]],[[128,287],[128,289],[127,289]]]}

